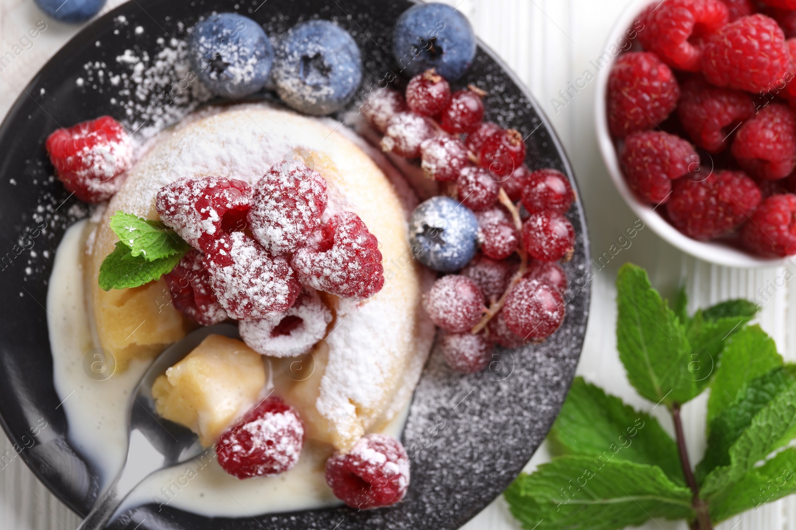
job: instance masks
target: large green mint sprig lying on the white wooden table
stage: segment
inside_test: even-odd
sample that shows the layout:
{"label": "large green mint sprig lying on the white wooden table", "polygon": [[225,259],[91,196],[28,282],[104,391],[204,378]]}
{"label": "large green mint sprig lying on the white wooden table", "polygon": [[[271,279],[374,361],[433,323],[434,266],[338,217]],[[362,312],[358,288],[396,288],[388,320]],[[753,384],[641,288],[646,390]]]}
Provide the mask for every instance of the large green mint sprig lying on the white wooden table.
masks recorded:
{"label": "large green mint sprig lying on the white wooden table", "polygon": [[[758,307],[728,300],[687,311],[681,290],[672,308],[643,269],[617,278],[619,358],[650,408],[669,410],[672,439],[640,412],[576,378],[550,441],[557,455],[505,492],[524,528],[613,530],[650,517],[713,524],[796,493],[796,366],[748,326]],[[694,469],[681,406],[704,389],[708,448]]]}

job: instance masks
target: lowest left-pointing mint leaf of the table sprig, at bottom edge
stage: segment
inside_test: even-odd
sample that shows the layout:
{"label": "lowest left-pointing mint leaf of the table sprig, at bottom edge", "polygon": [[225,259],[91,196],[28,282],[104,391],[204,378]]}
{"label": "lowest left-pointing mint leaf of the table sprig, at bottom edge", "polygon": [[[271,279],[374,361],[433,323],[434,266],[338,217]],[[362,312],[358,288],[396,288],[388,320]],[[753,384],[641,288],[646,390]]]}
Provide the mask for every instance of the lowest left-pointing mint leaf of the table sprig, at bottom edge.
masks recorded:
{"label": "lowest left-pointing mint leaf of the table sprig, at bottom edge", "polygon": [[523,528],[616,530],[650,517],[691,519],[692,493],[656,466],[565,456],[521,474],[505,499]]}

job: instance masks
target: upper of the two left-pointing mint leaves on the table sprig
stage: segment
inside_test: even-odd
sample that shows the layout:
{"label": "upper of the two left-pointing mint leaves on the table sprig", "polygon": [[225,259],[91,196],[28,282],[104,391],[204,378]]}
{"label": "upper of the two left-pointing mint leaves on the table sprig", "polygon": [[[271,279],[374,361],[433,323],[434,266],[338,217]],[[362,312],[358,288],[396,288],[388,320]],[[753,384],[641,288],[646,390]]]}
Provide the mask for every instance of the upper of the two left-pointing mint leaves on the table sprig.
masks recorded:
{"label": "upper of the two left-pointing mint leaves on the table sprig", "polygon": [[551,434],[568,454],[657,465],[685,486],[677,445],[657,420],[581,377],[572,382]]}

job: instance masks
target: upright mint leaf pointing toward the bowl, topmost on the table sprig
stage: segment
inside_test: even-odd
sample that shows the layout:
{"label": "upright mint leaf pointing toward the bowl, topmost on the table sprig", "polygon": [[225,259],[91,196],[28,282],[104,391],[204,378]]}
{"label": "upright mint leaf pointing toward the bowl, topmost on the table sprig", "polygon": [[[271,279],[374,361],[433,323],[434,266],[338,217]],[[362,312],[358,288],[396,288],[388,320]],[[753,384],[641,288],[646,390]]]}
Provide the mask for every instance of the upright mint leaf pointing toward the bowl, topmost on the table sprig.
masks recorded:
{"label": "upright mint leaf pointing toward the bowl, topmost on the table sprig", "polygon": [[685,403],[696,396],[685,328],[652,288],[646,271],[622,265],[616,287],[617,348],[630,384],[654,403]]}

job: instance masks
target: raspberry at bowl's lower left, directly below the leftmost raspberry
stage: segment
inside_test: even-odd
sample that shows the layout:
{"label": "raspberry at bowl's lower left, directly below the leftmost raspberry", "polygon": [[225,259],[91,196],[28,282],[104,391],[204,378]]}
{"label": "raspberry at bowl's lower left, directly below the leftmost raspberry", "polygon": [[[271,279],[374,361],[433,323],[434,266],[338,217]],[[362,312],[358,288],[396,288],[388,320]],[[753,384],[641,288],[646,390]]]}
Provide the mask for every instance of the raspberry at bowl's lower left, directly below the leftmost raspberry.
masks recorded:
{"label": "raspberry at bowl's lower left, directly below the leftmost raspberry", "polygon": [[689,142],[673,134],[650,131],[625,140],[619,153],[630,189],[647,203],[664,203],[672,191],[671,180],[699,166],[699,156]]}

